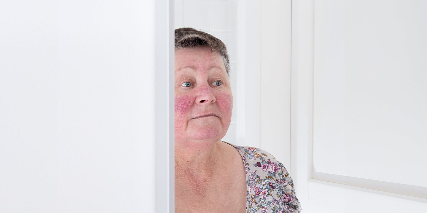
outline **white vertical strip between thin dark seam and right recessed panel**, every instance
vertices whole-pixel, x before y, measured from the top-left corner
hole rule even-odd
[[[308,210],[313,158],[313,0],[291,6],[291,176]]]

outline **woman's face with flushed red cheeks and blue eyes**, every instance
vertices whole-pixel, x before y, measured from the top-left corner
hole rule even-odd
[[[225,66],[209,47],[175,51],[175,139],[220,140],[231,122],[233,96]]]

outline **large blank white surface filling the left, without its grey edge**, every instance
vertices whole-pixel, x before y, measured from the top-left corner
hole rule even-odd
[[[155,211],[155,4],[2,1],[0,212]]]

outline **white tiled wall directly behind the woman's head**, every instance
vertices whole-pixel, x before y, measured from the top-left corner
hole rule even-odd
[[[236,58],[237,58],[236,0],[175,0],[175,29],[193,27],[221,39],[230,55],[230,80],[234,105],[231,124],[223,140],[236,142]]]

